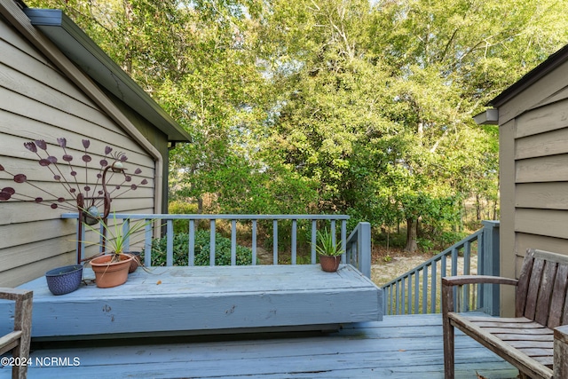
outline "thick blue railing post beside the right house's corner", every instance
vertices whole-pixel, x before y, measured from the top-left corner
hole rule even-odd
[[[483,243],[481,254],[477,259],[483,262],[483,272],[480,275],[499,276],[500,274],[500,251],[499,251],[499,221],[482,221]],[[480,249],[477,244],[477,249]],[[500,288],[497,285],[486,285],[483,288],[483,309],[492,316],[499,316]]]

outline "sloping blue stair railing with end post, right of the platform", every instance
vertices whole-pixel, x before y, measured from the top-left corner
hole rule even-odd
[[[477,274],[499,275],[499,222],[483,221],[483,224],[476,233],[383,285],[385,314],[439,313],[441,278],[476,273],[471,271],[472,257],[477,257]],[[458,270],[461,259],[463,263]],[[464,312],[499,314],[498,286],[464,286],[460,296]]]

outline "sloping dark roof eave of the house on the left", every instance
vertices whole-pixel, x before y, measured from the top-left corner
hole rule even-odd
[[[60,10],[26,8],[34,27],[42,31],[68,59],[118,99],[168,136],[170,142],[189,142],[190,135],[160,107],[121,67],[114,63]]]

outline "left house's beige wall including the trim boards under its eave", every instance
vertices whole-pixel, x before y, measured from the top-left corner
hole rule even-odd
[[[129,168],[139,167],[140,177],[148,180],[146,186],[114,199],[113,210],[162,211],[167,203],[167,159],[162,158],[167,158],[168,136],[122,100],[102,91],[27,20],[15,4],[2,0],[0,164],[61,195],[62,187],[53,183],[50,172],[39,166],[36,155],[23,143],[44,139],[56,144],[57,138],[64,137],[70,154],[79,156],[82,139],[88,138],[91,154],[102,157],[105,146],[111,146],[127,154]],[[50,148],[59,154],[59,146]],[[15,184],[2,174],[0,188],[12,186],[17,193],[38,195],[34,188]],[[76,222],[61,219],[64,212],[30,201],[0,201],[0,287],[18,286],[53,267],[75,263]]]

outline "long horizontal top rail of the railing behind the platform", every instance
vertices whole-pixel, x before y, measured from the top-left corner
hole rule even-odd
[[[64,213],[61,218],[77,218],[78,213]],[[218,215],[218,214],[195,214],[173,215],[169,213],[114,213],[110,218],[119,219],[193,219],[193,220],[348,220],[347,215]]]

